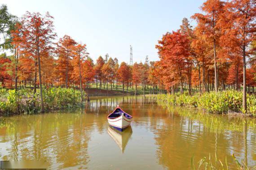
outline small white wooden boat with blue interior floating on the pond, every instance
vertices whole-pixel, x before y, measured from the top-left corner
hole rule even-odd
[[[107,116],[108,123],[119,131],[124,131],[125,128],[129,127],[132,122],[132,116],[125,113],[119,105],[115,110]]]

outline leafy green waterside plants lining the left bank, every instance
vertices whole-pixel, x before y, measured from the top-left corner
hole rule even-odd
[[[49,88],[43,90],[45,110],[72,108],[81,104],[80,92],[75,89]],[[40,110],[40,92],[37,89],[0,89],[0,115],[30,114]]]

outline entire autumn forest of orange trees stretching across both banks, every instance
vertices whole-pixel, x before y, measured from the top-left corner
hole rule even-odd
[[[163,34],[155,45],[159,61],[149,61],[146,57],[144,63],[133,65],[119,64],[117,58],[108,54],[93,61],[86,43],[78,43],[69,35],[57,39],[54,18],[49,13],[26,12],[18,18],[2,5],[0,48],[10,51],[10,55],[8,52],[0,55],[0,113],[9,110],[7,102],[11,94],[15,107],[23,103],[29,108],[22,112],[37,105],[44,112],[54,105],[70,104],[58,101],[59,95],[66,98],[65,93],[71,96],[75,93],[74,98],[79,98],[72,100],[75,105],[84,101],[87,89],[117,90],[120,86],[123,92],[134,89],[135,95],[140,87],[144,94],[150,89],[148,93],[170,93],[184,98],[228,96],[229,106],[222,106],[224,109],[218,113],[227,111],[226,107],[235,107],[235,111],[256,115],[255,5],[254,0],[206,0],[200,7],[202,13],[190,17],[195,26],[184,18],[180,29]],[[64,94],[62,89],[66,90]],[[17,103],[17,98],[31,98],[31,103],[24,104],[22,99]],[[55,104],[49,104],[55,100]],[[203,105],[204,100],[200,101]]]

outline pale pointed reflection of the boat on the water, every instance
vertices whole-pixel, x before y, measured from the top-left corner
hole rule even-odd
[[[108,127],[108,134],[115,140],[115,143],[119,146],[122,153],[124,153],[124,149],[128,143],[128,140],[132,136],[132,127],[127,127],[123,132],[119,132],[115,128],[109,126]]]

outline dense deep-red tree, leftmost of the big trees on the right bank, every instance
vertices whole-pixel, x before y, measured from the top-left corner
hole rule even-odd
[[[163,83],[166,89],[174,88],[180,82],[183,93],[184,68],[186,58],[190,55],[189,39],[179,31],[163,35],[159,45],[159,57],[163,68]]]

